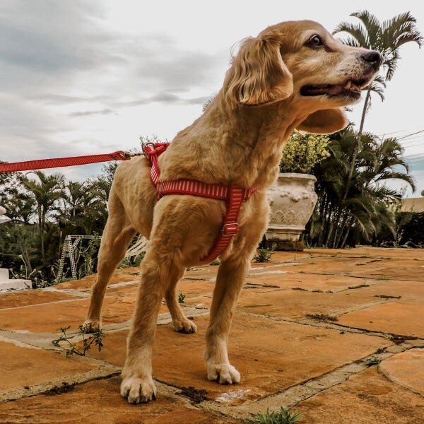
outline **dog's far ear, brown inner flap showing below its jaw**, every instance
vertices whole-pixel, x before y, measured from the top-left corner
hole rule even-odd
[[[312,134],[332,134],[348,125],[348,119],[341,107],[336,109],[318,110],[310,114],[300,125],[299,131]]]

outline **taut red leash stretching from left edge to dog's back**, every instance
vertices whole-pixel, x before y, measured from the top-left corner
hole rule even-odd
[[[49,167],[88,165],[88,163],[107,162],[109,160],[127,160],[129,158],[131,158],[129,153],[116,151],[102,155],[72,156],[70,158],[52,158],[28,160],[26,162],[0,163],[0,174],[2,172],[42,170]]]

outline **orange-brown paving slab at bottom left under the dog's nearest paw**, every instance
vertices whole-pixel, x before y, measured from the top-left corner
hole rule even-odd
[[[118,377],[88,382],[66,394],[40,395],[0,404],[3,424],[235,424],[238,421],[195,408],[182,397],[161,391],[158,400],[129,405],[119,396]]]

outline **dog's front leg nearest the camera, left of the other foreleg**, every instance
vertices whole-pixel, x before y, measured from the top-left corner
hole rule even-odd
[[[129,332],[126,361],[122,370],[121,394],[130,404],[146,403],[155,399],[156,388],[152,378],[152,348],[160,302],[173,273],[175,264],[167,257],[158,257],[150,246],[141,266],[141,283],[136,310]]]

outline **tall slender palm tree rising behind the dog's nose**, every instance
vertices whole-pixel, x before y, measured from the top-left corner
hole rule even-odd
[[[360,119],[357,146],[355,146],[351,158],[348,183],[352,179],[355,160],[360,151],[360,140],[363,134],[365,114],[371,106],[371,93],[377,93],[383,101],[384,88],[386,88],[387,81],[393,78],[394,71],[400,59],[399,49],[401,46],[407,42],[416,42],[418,46],[421,47],[423,43],[423,36],[416,29],[416,18],[414,18],[410,12],[401,13],[398,16],[394,16],[394,18],[384,20],[382,23],[369,11],[355,12],[352,13],[351,16],[358,18],[360,23],[353,24],[342,22],[337,25],[333,33],[348,33],[349,37],[343,40],[347,45],[364,47],[365,49],[377,50],[380,52],[383,57],[382,67],[385,73],[384,76],[377,76],[370,86],[365,88],[365,102]],[[344,199],[346,199],[347,194],[348,187],[345,189],[343,195]]]

